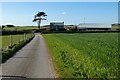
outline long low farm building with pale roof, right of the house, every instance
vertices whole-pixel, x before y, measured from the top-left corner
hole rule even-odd
[[[81,23],[78,25],[78,30],[111,30],[111,24],[102,23]]]

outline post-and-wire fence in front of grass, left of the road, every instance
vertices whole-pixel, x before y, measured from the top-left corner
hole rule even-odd
[[[0,37],[2,37],[1,50],[8,49],[8,47],[19,44],[21,41],[26,41],[27,39],[30,39],[33,36],[34,36],[33,33],[0,36]]]

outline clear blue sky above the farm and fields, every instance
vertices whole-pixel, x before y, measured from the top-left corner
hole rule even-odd
[[[117,23],[117,2],[2,2],[2,23],[16,26],[35,26],[32,22],[38,11],[48,16],[41,25],[50,22],[78,25],[80,23]]]

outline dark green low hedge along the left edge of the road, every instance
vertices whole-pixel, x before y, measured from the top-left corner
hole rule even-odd
[[[0,58],[1,62],[4,63],[6,60],[8,60],[10,57],[12,57],[18,50],[20,50],[23,46],[25,46],[27,43],[29,43],[32,39],[31,37],[27,39],[26,41],[21,41],[18,44],[14,45],[13,47],[9,47],[7,50],[2,51],[2,57]]]

